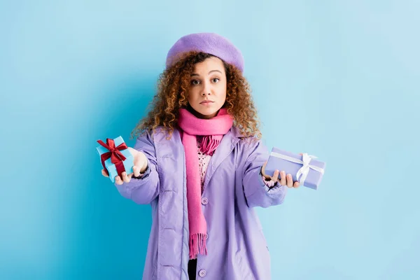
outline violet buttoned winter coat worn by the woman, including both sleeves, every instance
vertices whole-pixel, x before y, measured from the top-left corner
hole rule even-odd
[[[116,185],[123,197],[152,207],[145,280],[188,279],[184,149],[178,130],[166,137],[161,132],[137,138],[134,148],[146,154],[148,168],[142,179]],[[268,156],[260,141],[245,141],[236,127],[216,149],[202,193],[208,255],[197,257],[197,279],[271,279],[269,251],[253,207],[281,204],[287,187],[269,188],[262,181],[260,169]]]

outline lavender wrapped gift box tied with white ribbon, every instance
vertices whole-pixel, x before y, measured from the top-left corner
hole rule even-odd
[[[276,170],[282,170],[293,176],[293,181],[299,181],[300,186],[318,190],[325,170],[325,162],[315,160],[314,155],[303,153],[296,155],[278,148],[272,148],[265,174],[273,176]]]

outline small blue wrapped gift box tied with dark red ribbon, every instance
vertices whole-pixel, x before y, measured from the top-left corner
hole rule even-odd
[[[124,143],[123,137],[107,138],[106,143],[102,140],[97,142],[101,144],[97,147],[97,153],[101,157],[102,166],[113,183],[117,175],[123,178],[121,176],[123,172],[127,174],[133,172],[134,158]]]

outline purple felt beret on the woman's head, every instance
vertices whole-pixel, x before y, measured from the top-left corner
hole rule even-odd
[[[235,65],[241,72],[244,71],[244,57],[241,51],[227,38],[216,33],[195,33],[181,37],[169,50],[166,66],[171,66],[179,55],[191,50],[209,53]]]

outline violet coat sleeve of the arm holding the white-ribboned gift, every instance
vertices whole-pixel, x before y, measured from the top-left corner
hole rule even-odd
[[[275,183],[272,188],[262,179],[261,167],[268,160],[267,148],[257,141],[251,144],[244,165],[242,184],[248,207],[263,207],[283,203],[287,193],[287,186]]]

